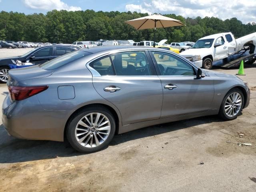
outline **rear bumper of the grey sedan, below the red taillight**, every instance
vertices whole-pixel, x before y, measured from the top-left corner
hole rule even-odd
[[[11,102],[7,96],[3,102],[2,124],[9,135],[31,140],[64,140],[64,128],[68,111],[44,110],[36,96]]]

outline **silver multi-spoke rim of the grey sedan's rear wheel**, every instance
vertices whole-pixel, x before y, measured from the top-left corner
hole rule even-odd
[[[89,113],[76,124],[75,138],[83,147],[94,148],[106,141],[110,134],[110,120],[102,113]]]

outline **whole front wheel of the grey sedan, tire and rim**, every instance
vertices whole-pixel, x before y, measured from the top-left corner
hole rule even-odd
[[[244,106],[244,95],[238,88],[230,90],[220,106],[219,115],[224,120],[233,120],[241,113]]]

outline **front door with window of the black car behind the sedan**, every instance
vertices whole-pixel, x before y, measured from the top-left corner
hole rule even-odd
[[[28,56],[27,60],[29,60],[30,63],[39,65],[54,58],[54,47],[52,46],[39,49],[38,51]]]

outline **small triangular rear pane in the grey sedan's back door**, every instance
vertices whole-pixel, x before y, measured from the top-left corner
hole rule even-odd
[[[90,67],[94,68],[101,76],[114,75],[112,62],[109,56],[104,56],[91,62]]]

